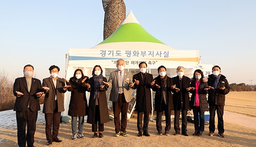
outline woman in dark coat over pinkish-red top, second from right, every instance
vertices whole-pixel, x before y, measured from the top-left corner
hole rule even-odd
[[[209,111],[206,98],[207,88],[207,81],[203,81],[203,72],[200,69],[195,70],[194,76],[191,79],[191,90],[189,91],[192,93],[190,105],[194,113],[195,133],[193,135],[201,136],[204,131],[204,112]]]

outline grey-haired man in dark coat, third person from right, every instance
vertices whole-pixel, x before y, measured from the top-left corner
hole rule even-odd
[[[187,134],[187,110],[189,108],[189,95],[188,91],[191,89],[190,87],[190,79],[184,76],[185,68],[183,66],[177,67],[178,76],[173,78],[173,82],[176,85],[175,91],[173,94],[174,100],[174,130],[175,134],[180,134],[180,111],[182,117],[182,126],[181,131],[182,135],[188,136]]]

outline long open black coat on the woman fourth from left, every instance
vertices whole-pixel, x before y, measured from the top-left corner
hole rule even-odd
[[[103,77],[102,79],[104,82],[108,82],[105,77]],[[94,80],[92,77],[89,79],[89,84],[91,85],[91,92],[90,92],[90,99],[89,99],[87,122],[89,124],[94,124],[96,100],[94,99]],[[100,89],[99,91],[98,104],[99,104],[99,113],[100,113],[100,124],[110,121],[108,103],[106,101],[106,90],[108,90],[108,87],[104,86],[104,88]]]

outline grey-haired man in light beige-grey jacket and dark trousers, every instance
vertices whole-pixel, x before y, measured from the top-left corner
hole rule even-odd
[[[131,102],[131,90],[133,86],[133,77],[131,72],[124,70],[125,62],[123,59],[117,60],[116,67],[118,70],[111,72],[109,85],[112,86],[110,93],[110,101],[113,103],[115,136],[120,134],[128,136],[126,132],[127,111],[129,102]],[[121,112],[121,126],[120,126]]]

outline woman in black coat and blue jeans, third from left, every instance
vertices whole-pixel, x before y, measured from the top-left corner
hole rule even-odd
[[[69,112],[68,115],[72,117],[72,139],[83,138],[83,122],[84,116],[87,115],[87,98],[86,91],[91,91],[91,86],[88,84],[89,78],[83,75],[81,69],[76,69],[74,76],[70,80],[64,79],[67,85],[71,87],[68,91],[71,91]],[[76,124],[78,116],[78,134],[76,134]]]

